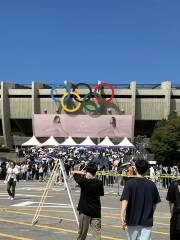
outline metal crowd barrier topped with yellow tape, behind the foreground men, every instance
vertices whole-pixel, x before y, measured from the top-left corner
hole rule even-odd
[[[117,194],[120,195],[122,187],[125,182],[136,175],[128,176],[126,174],[112,173],[112,172],[97,172],[96,177],[100,179],[104,186],[111,188]],[[170,176],[170,175],[155,175],[155,176],[144,176],[145,178],[153,181],[159,190],[168,189],[171,182],[176,179],[180,179],[180,176]]]

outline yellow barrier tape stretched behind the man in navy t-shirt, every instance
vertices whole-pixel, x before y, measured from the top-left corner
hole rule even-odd
[[[127,175],[127,174],[120,174],[120,173],[112,173],[112,172],[97,172],[96,176],[108,176],[108,177],[137,177],[136,175]],[[150,178],[150,179],[164,179],[164,178],[170,178],[170,179],[180,179],[180,176],[170,176],[170,175],[145,175],[145,178]]]

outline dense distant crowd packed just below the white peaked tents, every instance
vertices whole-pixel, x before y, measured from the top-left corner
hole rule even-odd
[[[21,150],[20,150],[21,151]],[[95,162],[99,171],[120,172],[121,164],[133,154],[132,149],[93,149],[84,147],[25,148],[21,153],[24,161],[19,163],[20,179],[45,180],[54,166],[54,159],[60,158],[69,176],[75,169],[81,170],[88,162]],[[4,175],[3,175],[4,176]]]

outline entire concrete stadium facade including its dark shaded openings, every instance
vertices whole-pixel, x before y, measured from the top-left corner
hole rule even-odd
[[[94,86],[92,86],[94,87]],[[132,115],[134,136],[151,136],[158,120],[167,119],[172,113],[180,116],[180,85],[171,81],[161,84],[115,84],[115,98],[105,105],[105,114]],[[59,110],[52,101],[51,88],[47,84],[32,82],[31,85],[1,82],[0,144],[8,147],[21,145],[33,135],[34,114],[68,114]],[[59,86],[58,97],[65,89]],[[104,90],[111,95],[111,90]],[[78,88],[80,96],[87,88]],[[60,111],[60,112],[59,112]],[[87,114],[83,112],[74,114]]]

